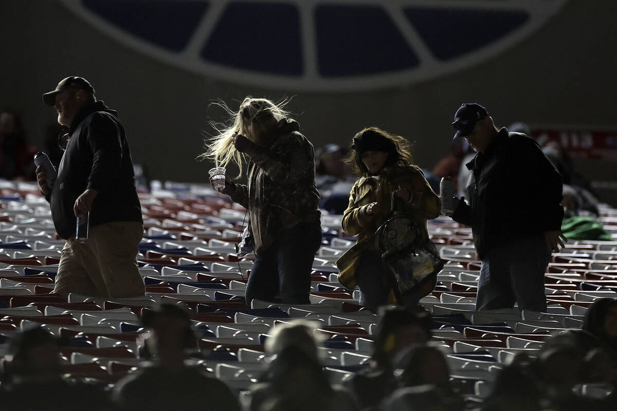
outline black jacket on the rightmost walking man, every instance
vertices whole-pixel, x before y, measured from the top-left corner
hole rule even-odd
[[[534,139],[502,128],[466,166],[471,203],[459,203],[452,218],[471,226],[480,259],[497,246],[561,229],[561,175]]]

